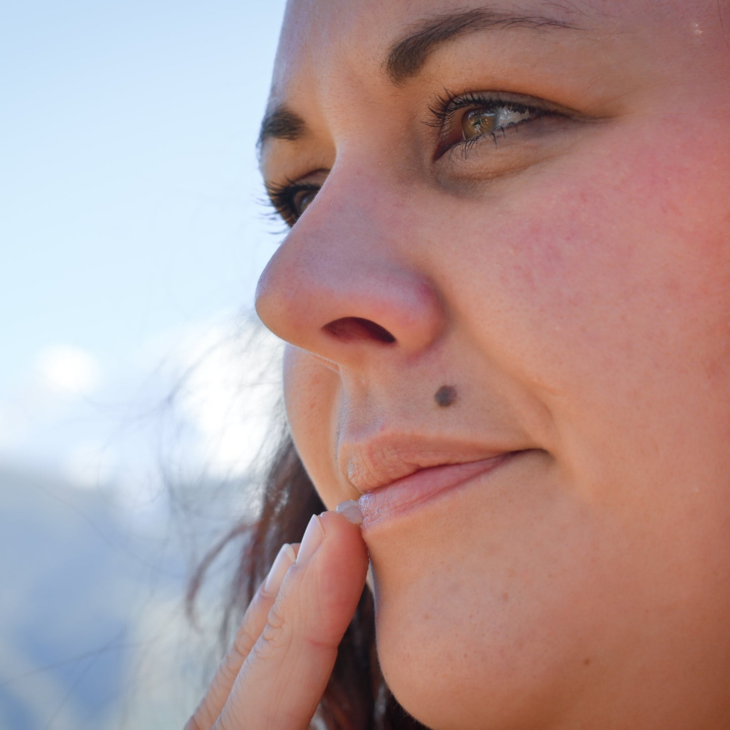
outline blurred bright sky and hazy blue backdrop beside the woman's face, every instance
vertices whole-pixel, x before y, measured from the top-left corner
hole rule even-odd
[[[255,160],[283,0],[0,23],[0,728],[180,730],[218,658],[280,353]]]

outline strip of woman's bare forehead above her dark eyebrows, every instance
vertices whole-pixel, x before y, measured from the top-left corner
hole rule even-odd
[[[650,32],[658,26],[701,29],[721,23],[724,0],[288,0],[272,99],[288,96],[296,78],[329,69],[385,71],[388,53],[442,18],[480,15],[485,25],[550,28],[563,24],[599,35]]]

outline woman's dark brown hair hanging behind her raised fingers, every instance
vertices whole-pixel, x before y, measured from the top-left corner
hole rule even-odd
[[[188,612],[192,613],[207,569],[223,548],[240,539],[242,549],[220,627],[220,636],[228,637],[231,626],[239,623],[269,572],[281,545],[299,542],[311,515],[323,510],[324,504],[285,431],[264,482],[260,512],[255,520],[234,526],[205,556],[188,589]],[[374,605],[369,588],[363,591],[353,621],[339,645],[337,661],[315,718],[316,727],[326,730],[423,728],[385,686],[375,654]]]

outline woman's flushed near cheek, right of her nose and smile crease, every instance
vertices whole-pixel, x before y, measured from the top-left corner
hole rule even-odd
[[[475,338],[538,393],[584,499],[638,513],[656,490],[679,505],[687,483],[725,488],[730,174],[710,152],[683,150],[693,169],[662,166],[639,139],[624,169],[609,155],[549,195],[526,191],[531,207],[499,215],[497,245],[470,261],[489,292]],[[464,318],[477,291],[454,294]]]

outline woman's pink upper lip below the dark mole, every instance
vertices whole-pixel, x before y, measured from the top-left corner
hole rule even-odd
[[[382,434],[365,442],[341,444],[338,461],[345,480],[364,493],[403,479],[421,469],[483,461],[517,450],[522,449]]]

